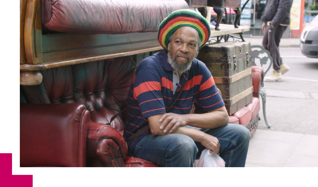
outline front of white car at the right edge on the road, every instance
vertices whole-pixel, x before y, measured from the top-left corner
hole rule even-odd
[[[302,31],[300,48],[306,57],[318,58],[318,16]]]

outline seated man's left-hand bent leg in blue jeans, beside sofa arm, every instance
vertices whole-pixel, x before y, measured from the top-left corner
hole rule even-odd
[[[135,146],[132,156],[162,167],[193,167],[197,154],[194,141],[182,134],[147,135]]]

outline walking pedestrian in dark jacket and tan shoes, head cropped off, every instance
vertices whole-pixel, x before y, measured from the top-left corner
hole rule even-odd
[[[279,44],[287,26],[290,24],[290,9],[293,0],[267,0],[262,16],[262,30],[264,33],[263,47],[273,58],[273,74],[266,77],[266,82],[281,82],[282,75],[290,67],[283,64],[280,58]]]

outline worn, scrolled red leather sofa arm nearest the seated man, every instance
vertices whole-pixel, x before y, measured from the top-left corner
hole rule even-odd
[[[91,123],[87,133],[87,154],[91,167],[125,167],[128,154],[125,139],[113,127]]]

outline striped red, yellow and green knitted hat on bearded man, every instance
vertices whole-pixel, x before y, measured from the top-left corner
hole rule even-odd
[[[181,27],[192,27],[198,31],[202,40],[200,48],[211,35],[210,24],[203,16],[190,9],[177,10],[166,17],[159,26],[158,40],[165,50],[168,50],[169,37]]]

